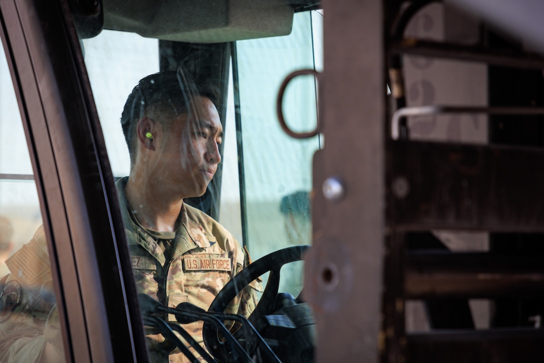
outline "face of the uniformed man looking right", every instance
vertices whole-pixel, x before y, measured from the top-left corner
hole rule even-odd
[[[221,161],[223,130],[219,113],[207,97],[194,97],[188,114],[172,121],[164,132],[157,162],[158,182],[180,198],[200,196]],[[160,173],[160,174],[159,174]]]

